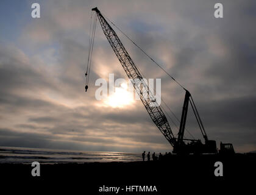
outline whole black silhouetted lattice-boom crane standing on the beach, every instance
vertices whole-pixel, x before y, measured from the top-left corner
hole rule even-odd
[[[171,127],[169,125],[169,122],[165,114],[163,113],[162,108],[155,101],[155,98],[152,92],[149,90],[147,83],[143,80],[143,77],[141,76],[140,72],[135,66],[135,63],[130,58],[130,55],[128,54],[123,44],[119,40],[118,35],[116,35],[116,32],[112,29],[110,24],[107,23],[106,19],[104,18],[104,16],[102,16],[101,12],[98,10],[97,7],[93,8],[92,10],[96,12],[99,19],[99,23],[101,24],[102,30],[105,34],[105,37],[107,37],[107,40],[110,43],[110,46],[112,46],[112,49],[116,54],[116,57],[118,58],[121,65],[123,66],[124,71],[126,72],[130,81],[133,83],[133,87],[135,88],[135,91],[137,91],[138,95],[140,96],[141,102],[143,103],[144,107],[149,113],[149,116],[151,117],[154,124],[158,127],[160,132],[163,133],[166,140],[168,140],[169,143],[172,145],[173,152],[176,154],[217,153],[216,141],[208,140],[204,126],[202,124],[199,113],[197,112],[196,105],[194,104],[194,101],[193,101],[193,98],[191,97],[190,92],[185,88],[183,88],[182,85],[180,85],[179,83],[178,84],[180,85],[180,87],[182,87],[185,90],[185,99],[183,103],[182,117],[180,120],[178,137],[174,137]],[[145,94],[147,96],[145,96]],[[193,113],[196,116],[197,123],[204,137],[204,140],[205,140],[204,144],[201,142],[201,140],[194,140],[194,139],[192,140],[192,139],[184,138],[185,124],[187,120],[189,104],[193,109]],[[186,144],[184,141],[189,141],[189,143]]]

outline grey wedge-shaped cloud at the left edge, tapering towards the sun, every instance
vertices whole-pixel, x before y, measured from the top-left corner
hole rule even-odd
[[[22,88],[39,90],[40,88],[54,88],[49,78],[45,75],[47,70],[38,70],[29,64],[27,56],[15,46],[1,44],[0,47],[0,90],[20,91]]]

